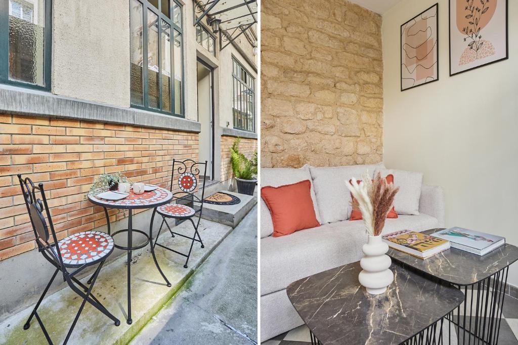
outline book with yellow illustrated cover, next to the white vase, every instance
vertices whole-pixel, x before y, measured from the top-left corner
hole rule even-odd
[[[450,248],[450,241],[410,230],[396,231],[382,238],[390,248],[423,259]]]

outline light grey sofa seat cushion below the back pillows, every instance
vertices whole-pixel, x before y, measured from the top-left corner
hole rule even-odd
[[[424,231],[438,226],[430,215],[387,219],[382,234],[396,230]],[[342,221],[261,239],[261,295],[285,289],[295,280],[362,258],[367,243],[363,222]]]

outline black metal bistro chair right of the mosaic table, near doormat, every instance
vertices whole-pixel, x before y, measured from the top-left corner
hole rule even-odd
[[[188,170],[187,163],[192,163],[189,171],[187,171]],[[202,245],[202,248],[205,248],[205,246],[203,245],[203,242],[202,242],[202,238],[199,236],[199,233],[198,233],[198,226],[199,226],[200,220],[202,219],[203,199],[205,196],[205,180],[206,180],[205,177],[207,176],[207,161],[205,161],[205,163],[201,163],[201,162],[195,162],[190,159],[187,159],[184,161],[172,160],[171,188],[170,188],[171,192],[172,192],[172,185],[174,183],[173,177],[175,175],[175,165],[177,165],[177,164],[179,165],[177,168],[177,171],[178,171],[178,174],[180,174],[180,177],[178,178],[178,187],[180,188],[181,192],[176,192],[176,193],[172,194],[173,199],[171,200],[171,204],[163,205],[163,206],[160,206],[159,208],[155,209],[162,216],[162,224],[160,224],[160,229],[159,229],[158,234],[156,235],[154,246],[160,246],[162,248],[170,250],[171,252],[175,252],[177,254],[185,256],[187,258],[187,260],[185,260],[185,265],[183,265],[183,267],[187,268],[187,263],[189,262],[189,257],[191,256],[194,241],[200,242]],[[193,191],[196,189],[196,186],[198,185],[198,180],[197,180],[196,176],[199,179],[200,169],[203,168],[203,166],[205,167],[205,171],[204,171],[204,175],[203,175],[204,179],[203,179],[203,185],[202,185],[202,198],[200,199],[196,195],[193,194]],[[182,196],[175,198],[175,195],[179,195],[179,194],[182,194]],[[172,204],[172,202],[178,202],[179,200],[192,202],[193,207],[194,207],[194,203],[198,203],[198,204],[200,204],[199,209],[195,210],[192,207],[189,207],[187,205],[182,205],[182,204]],[[198,220],[195,222],[193,220],[193,218],[196,213],[198,213]],[[154,211],[153,211],[153,215],[151,217],[152,217],[151,219],[153,219]],[[173,219],[178,219],[178,220],[187,220],[187,219],[190,220],[194,227],[193,237],[189,237],[189,236],[185,236],[183,234],[178,234],[178,233],[173,232],[171,230],[169,224],[167,223],[166,218],[173,218]],[[189,249],[189,253],[184,254],[184,253],[178,252],[174,249],[165,247],[165,246],[161,245],[160,243],[157,243],[157,240],[160,236],[160,232],[162,231],[162,227],[164,226],[164,223],[167,226],[167,228],[169,229],[169,232],[171,233],[172,237],[175,237],[175,235],[178,235],[178,236],[182,236],[185,238],[189,238],[192,241],[191,248]],[[152,220],[151,220],[151,224],[153,224]],[[153,248],[154,248],[154,246],[153,246]]]

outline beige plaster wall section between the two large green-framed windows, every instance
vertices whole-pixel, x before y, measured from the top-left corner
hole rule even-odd
[[[52,9],[52,93],[129,107],[129,2],[53,0]]]

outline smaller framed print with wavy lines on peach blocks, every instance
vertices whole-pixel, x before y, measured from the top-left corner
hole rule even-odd
[[[401,25],[401,91],[439,80],[438,7]]]

